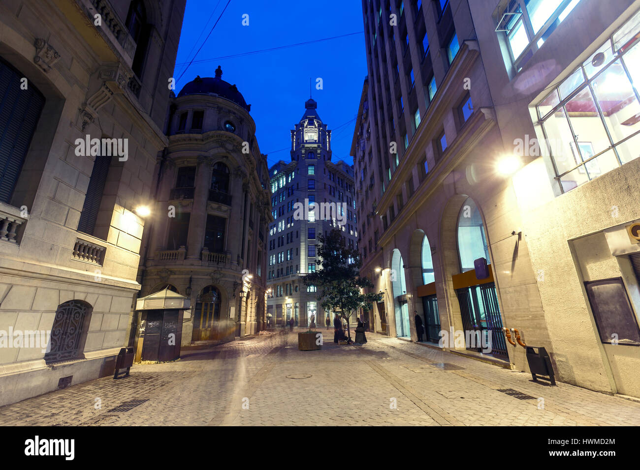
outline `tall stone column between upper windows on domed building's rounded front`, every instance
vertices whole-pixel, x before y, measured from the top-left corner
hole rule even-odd
[[[195,190],[193,191],[193,208],[189,219],[189,235],[187,238],[187,259],[200,259],[204,232],[207,226],[207,200],[211,182],[211,159],[198,157]]]

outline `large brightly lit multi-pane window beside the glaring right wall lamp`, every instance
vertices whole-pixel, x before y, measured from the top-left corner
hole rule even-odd
[[[640,102],[634,83],[640,80],[640,22],[634,17],[619,31],[624,33],[616,31],[537,107],[547,139],[541,150],[552,158],[563,192],[639,156]],[[612,44],[621,36],[630,40],[614,54]]]

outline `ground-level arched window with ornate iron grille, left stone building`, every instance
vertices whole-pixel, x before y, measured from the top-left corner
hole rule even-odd
[[[67,301],[58,306],[51,327],[49,352],[44,355],[45,363],[58,363],[76,359],[84,350],[86,333],[92,307],[83,301]]]

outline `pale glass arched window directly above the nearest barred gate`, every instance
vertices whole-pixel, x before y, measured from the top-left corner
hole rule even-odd
[[[478,258],[491,263],[482,215],[471,198],[465,200],[458,214],[458,255],[460,272],[474,269],[474,260]]]

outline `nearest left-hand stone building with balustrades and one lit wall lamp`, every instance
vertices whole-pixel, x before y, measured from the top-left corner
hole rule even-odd
[[[112,374],[127,344],[184,7],[0,4],[0,405]]]

